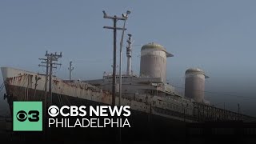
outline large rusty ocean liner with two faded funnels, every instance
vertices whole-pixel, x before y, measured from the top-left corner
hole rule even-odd
[[[130,47],[127,47],[126,74],[116,74],[115,104],[130,106],[131,127],[122,129],[122,139],[177,139],[186,135],[187,123],[207,121],[255,122],[255,118],[210,106],[204,98],[206,76],[203,70],[186,70],[185,95],[166,82],[166,58],[173,57],[163,46],[151,42],[142,46],[139,76],[131,70]],[[113,102],[113,74],[104,73],[101,79],[66,80],[27,70],[1,67],[6,88],[5,98],[13,110],[14,101],[42,101],[50,105],[98,106]],[[119,83],[122,78],[122,97]],[[48,98],[48,99],[47,99]],[[49,100],[50,98],[50,100]],[[65,131],[65,130],[63,130]],[[62,132],[63,132],[62,131]],[[68,132],[72,131],[70,129]],[[78,132],[74,134],[75,132]],[[78,138],[110,139],[108,130],[81,129],[70,132]],[[62,132],[62,139],[65,136]],[[54,133],[52,133],[54,134]],[[111,137],[112,136],[112,137]],[[36,138],[36,137],[35,137]]]

